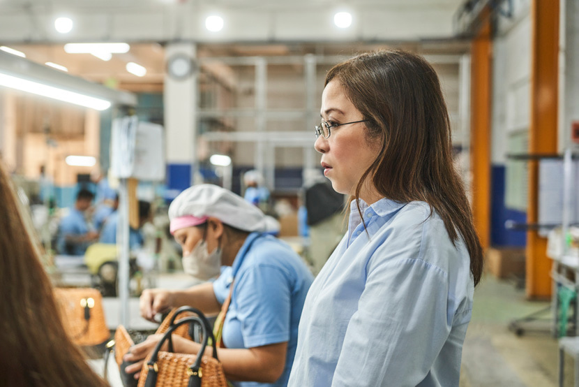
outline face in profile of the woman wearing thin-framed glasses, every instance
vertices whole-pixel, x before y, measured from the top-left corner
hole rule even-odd
[[[322,119],[330,126],[364,119],[347,98],[338,80],[331,80],[322,94]],[[366,141],[364,122],[331,128],[329,138],[319,136],[315,149],[322,154],[324,175],[340,194],[353,195],[360,177],[376,159],[380,145]],[[371,204],[379,199],[373,185],[363,184],[360,198]]]

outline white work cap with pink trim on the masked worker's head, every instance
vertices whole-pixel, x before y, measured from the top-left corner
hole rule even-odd
[[[266,232],[265,214],[232,191],[213,184],[197,184],[181,192],[169,206],[170,231],[197,226],[208,217],[248,232]]]

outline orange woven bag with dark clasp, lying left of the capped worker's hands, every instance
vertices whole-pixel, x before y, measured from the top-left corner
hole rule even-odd
[[[103,298],[100,292],[90,288],[54,289],[59,316],[68,337],[80,346],[102,344],[110,338],[110,331],[103,312]],[[84,319],[81,300],[92,298],[94,305],[89,309],[90,318]]]

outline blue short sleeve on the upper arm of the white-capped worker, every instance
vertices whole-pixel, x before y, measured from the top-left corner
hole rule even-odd
[[[282,268],[260,264],[239,273],[234,298],[246,348],[289,341],[291,280]]]

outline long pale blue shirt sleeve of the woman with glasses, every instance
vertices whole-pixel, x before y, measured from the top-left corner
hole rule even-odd
[[[419,259],[420,242],[406,245],[402,257],[392,247],[382,245],[370,258],[332,386],[416,386],[449,337],[447,273]]]

